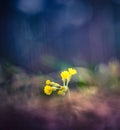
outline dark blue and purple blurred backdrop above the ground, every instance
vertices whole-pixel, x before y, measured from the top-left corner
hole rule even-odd
[[[0,62],[30,72],[120,58],[120,0],[1,0]]]

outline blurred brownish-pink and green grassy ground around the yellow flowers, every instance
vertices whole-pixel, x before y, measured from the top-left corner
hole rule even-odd
[[[120,63],[76,67],[70,95],[47,96],[45,81],[59,72],[28,74],[1,65],[0,130],[120,130]]]

